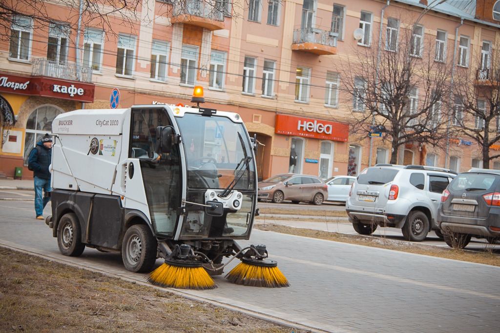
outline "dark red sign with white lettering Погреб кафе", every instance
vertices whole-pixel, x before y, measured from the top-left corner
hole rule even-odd
[[[92,83],[0,72],[0,92],[93,102],[94,90]]]

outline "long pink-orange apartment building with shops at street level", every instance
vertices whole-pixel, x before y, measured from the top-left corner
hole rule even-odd
[[[479,68],[477,59],[491,57],[500,38],[495,0],[213,0],[216,10],[206,0],[139,3],[142,19],[123,24],[115,15],[109,25],[90,22],[80,31],[78,15],[54,2],[46,3],[50,24],[12,18],[10,38],[0,41],[0,173],[13,177],[24,167],[30,178],[27,154],[61,112],[110,108],[116,89],[118,107],[190,105],[201,85],[207,107],[239,113],[261,143],[259,179],[288,172],[292,150],[295,173],[357,175],[387,163],[390,144],[354,131],[346,59],[384,47],[416,19],[415,38],[432,48],[432,61]],[[400,164],[457,171],[480,159],[460,137],[446,151],[411,144],[398,151]]]

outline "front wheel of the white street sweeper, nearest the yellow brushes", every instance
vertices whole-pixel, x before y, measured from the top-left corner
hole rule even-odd
[[[121,244],[121,260],[130,272],[149,272],[156,262],[156,238],[149,227],[135,224],[127,229]]]

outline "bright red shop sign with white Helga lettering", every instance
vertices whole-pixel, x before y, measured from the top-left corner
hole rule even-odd
[[[347,141],[349,125],[327,120],[277,114],[274,132],[317,139]]]

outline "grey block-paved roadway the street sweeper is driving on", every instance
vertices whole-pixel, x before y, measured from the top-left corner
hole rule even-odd
[[[290,287],[243,287],[219,276],[215,290],[173,291],[313,332],[500,332],[499,267],[259,230],[241,242],[249,244],[267,245]],[[60,255],[32,201],[0,200],[0,245],[144,282],[116,254]]]

